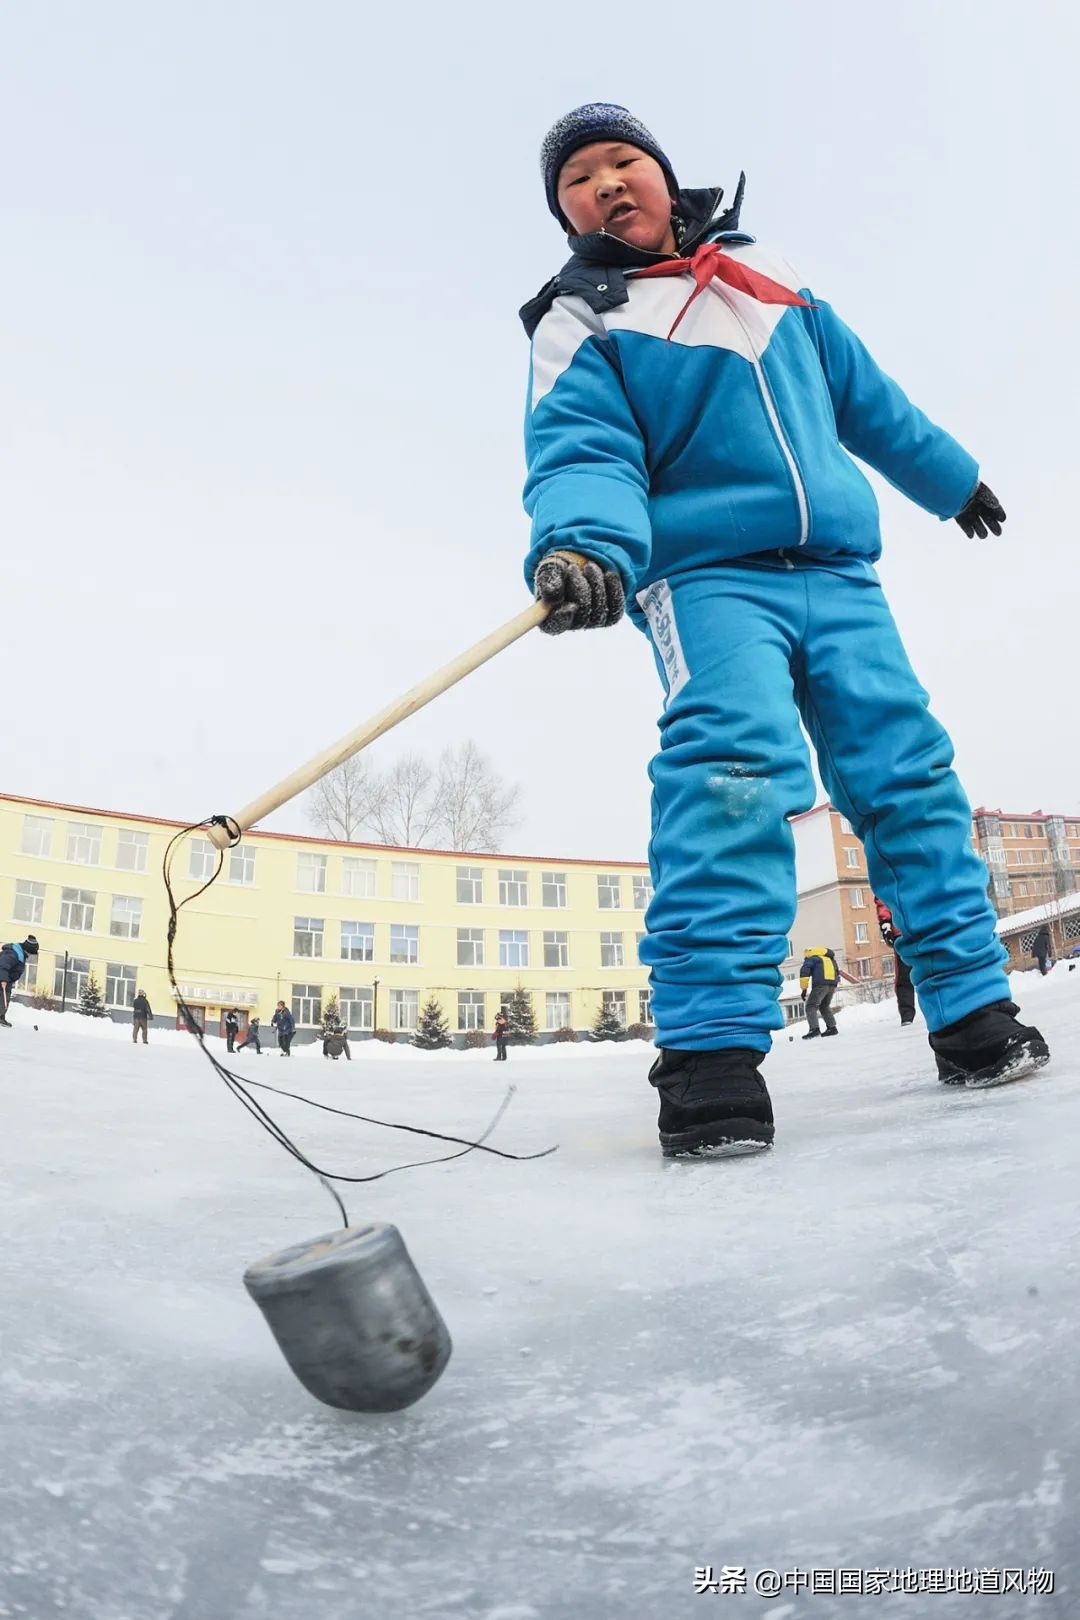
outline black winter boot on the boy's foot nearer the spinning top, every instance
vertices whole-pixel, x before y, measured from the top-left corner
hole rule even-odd
[[[772,1103],[758,1074],[763,1051],[667,1048],[649,1069],[661,1094],[664,1158],[753,1153],[772,1145]]]

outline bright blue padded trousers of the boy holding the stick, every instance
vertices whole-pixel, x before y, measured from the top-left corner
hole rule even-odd
[[[952,744],[868,564],[753,561],[638,596],[667,688],[641,961],[657,1047],[767,1051],[795,920],[789,816],[829,799],[904,930],[931,1030],[1009,996]],[[808,941],[803,941],[808,943]],[[829,944],[829,941],[823,941]]]

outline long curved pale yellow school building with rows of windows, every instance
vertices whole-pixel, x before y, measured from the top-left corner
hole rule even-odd
[[[136,988],[154,1022],[178,1024],[165,969],[162,859],[181,821],[0,794],[0,938],[40,943],[18,993],[78,1006],[92,974],[113,1017]],[[217,867],[191,834],[173,860],[178,899]],[[201,1025],[269,1024],[277,1001],[314,1032],[337,996],[355,1035],[402,1040],[434,995],[458,1038],[491,1030],[518,985],[536,1024],[588,1030],[601,1004],[651,1024],[638,962],[649,872],[636,862],[342,844],[248,833],[180,914],[176,982]]]

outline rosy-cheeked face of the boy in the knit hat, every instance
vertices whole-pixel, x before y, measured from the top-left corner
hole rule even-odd
[[[559,207],[575,237],[606,230],[649,253],[675,251],[667,178],[640,146],[580,146],[559,170]]]

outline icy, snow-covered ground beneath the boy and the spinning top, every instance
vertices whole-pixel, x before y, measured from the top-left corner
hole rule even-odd
[[[780,1037],[777,1147],[721,1163],[661,1160],[640,1043],[497,1069],[243,1055],[461,1134],[517,1081],[499,1145],[559,1142],[343,1189],[353,1220],[400,1226],[455,1341],[419,1405],[374,1418],[319,1406],[241,1286],[337,1225],[325,1191],[186,1037],[76,1038],[16,1008],[0,1615],[1080,1612],[1080,969],[1014,987],[1043,1074],[947,1090],[921,1024],[852,1009],[839,1040]],[[272,1103],[332,1168],[416,1157]],[[1056,1594],[696,1596],[703,1565],[1043,1567]]]

